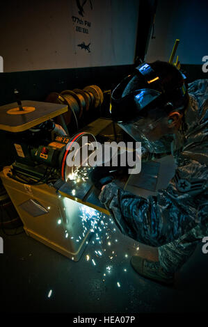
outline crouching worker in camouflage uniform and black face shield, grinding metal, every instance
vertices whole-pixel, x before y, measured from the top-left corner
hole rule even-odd
[[[139,65],[112,93],[112,119],[141,141],[142,161],[163,152],[177,164],[157,196],[135,196],[111,178],[102,178],[108,184],[99,195],[123,234],[159,248],[159,262],[131,257],[134,269],[166,284],[208,235],[207,98],[208,79],[191,83],[188,93],[184,75],[161,61]]]

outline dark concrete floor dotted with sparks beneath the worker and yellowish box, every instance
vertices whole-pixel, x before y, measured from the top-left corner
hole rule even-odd
[[[175,285],[166,287],[139,276],[129,264],[131,255],[135,254],[157,260],[157,249],[125,237],[109,218],[106,221],[109,239],[103,236],[99,247],[93,234],[79,262],[67,259],[24,232],[12,237],[0,230],[4,245],[4,253],[0,255],[0,311],[207,311],[208,254],[202,253],[202,243],[177,273]],[[103,255],[97,257],[95,250],[102,250]],[[90,255],[89,261],[86,255]],[[91,261],[93,258],[96,266]],[[111,272],[106,269],[108,266]]]

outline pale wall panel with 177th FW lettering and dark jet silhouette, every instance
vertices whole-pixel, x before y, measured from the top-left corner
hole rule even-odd
[[[4,1],[3,72],[134,63],[138,4],[138,0]]]

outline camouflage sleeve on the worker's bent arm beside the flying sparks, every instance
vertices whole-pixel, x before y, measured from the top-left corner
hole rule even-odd
[[[178,177],[182,173],[177,171],[168,188],[160,190],[157,196],[141,198],[111,182],[104,187],[99,200],[122,234],[143,244],[162,246],[203,224],[208,217],[207,182],[203,178],[207,170],[198,180]],[[189,168],[185,173],[190,173]]]

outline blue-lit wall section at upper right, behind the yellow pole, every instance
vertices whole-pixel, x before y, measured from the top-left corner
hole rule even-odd
[[[205,0],[158,0],[154,35],[150,38],[145,60],[168,61],[175,39],[177,55],[184,64],[202,64],[208,56],[208,2]]]

